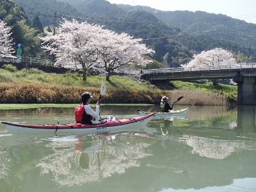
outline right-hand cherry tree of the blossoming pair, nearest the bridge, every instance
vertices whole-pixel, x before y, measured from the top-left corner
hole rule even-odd
[[[150,63],[143,55],[152,54],[154,51],[145,44],[140,44],[141,38],[132,38],[127,33],[117,34],[113,31],[109,31],[108,36],[111,38],[104,38],[104,42],[99,45],[99,65],[106,70],[106,81],[109,81],[109,77],[117,69],[125,74],[132,63],[141,66]]]

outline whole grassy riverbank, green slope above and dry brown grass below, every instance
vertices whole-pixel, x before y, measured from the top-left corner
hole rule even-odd
[[[237,87],[212,83],[172,81],[151,84],[134,81],[127,76],[88,76],[86,83],[75,73],[45,73],[36,68],[17,70],[12,65],[0,68],[0,104],[77,104],[81,93],[93,94],[92,103],[99,99],[100,85],[104,81],[107,91],[104,104],[158,104],[166,95],[170,102],[180,96],[179,104],[225,105],[236,101]],[[177,103],[178,104],[178,103]]]

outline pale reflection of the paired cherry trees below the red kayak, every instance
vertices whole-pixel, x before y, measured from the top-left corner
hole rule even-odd
[[[56,184],[73,186],[125,173],[127,168],[140,166],[138,159],[152,155],[145,152],[149,145],[146,143],[100,142],[104,143],[100,144],[99,151],[93,149],[88,152],[90,163],[86,169],[79,165],[82,154],[75,152],[74,142],[49,143],[45,147],[52,148],[53,153],[43,157],[36,166],[42,168],[41,174],[52,172]]]

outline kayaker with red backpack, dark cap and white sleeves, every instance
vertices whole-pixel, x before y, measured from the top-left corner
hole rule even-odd
[[[92,120],[99,117],[100,113],[100,104],[99,101],[96,105],[96,111],[93,111],[92,107],[89,105],[91,102],[91,98],[93,96],[85,92],[81,95],[82,104],[75,109],[76,122],[79,124],[92,124]]]

